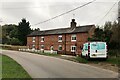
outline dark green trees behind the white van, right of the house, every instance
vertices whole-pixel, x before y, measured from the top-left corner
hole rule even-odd
[[[99,28],[99,26],[95,29],[94,35],[92,38],[88,38],[89,41],[104,41],[107,42],[108,49],[116,49],[119,48],[118,35],[119,35],[119,27],[117,22],[106,22],[103,28]]]

